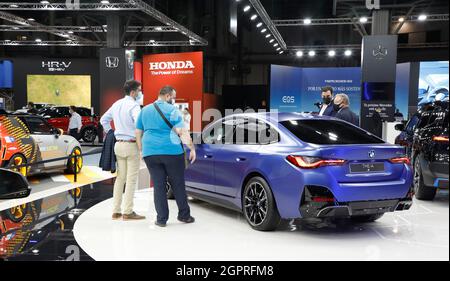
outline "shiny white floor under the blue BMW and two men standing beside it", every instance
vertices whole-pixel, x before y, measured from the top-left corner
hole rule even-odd
[[[154,226],[151,190],[136,194],[145,221],[112,221],[111,200],[77,220],[79,245],[96,260],[449,260],[449,199],[416,201],[405,212],[372,224],[317,225],[295,222],[276,232],[252,230],[236,212],[192,201],[197,222],[176,221],[170,202],[166,228]]]

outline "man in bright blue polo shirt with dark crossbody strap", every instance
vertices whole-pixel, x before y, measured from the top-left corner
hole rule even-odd
[[[181,112],[173,105],[176,91],[170,86],[161,89],[159,98],[146,106],[136,121],[136,139],[154,185],[157,226],[169,219],[166,182],[169,181],[177,205],[178,220],[193,223],[184,180],[185,155],[181,139],[189,147],[189,160],[194,163],[195,147],[186,130]]]

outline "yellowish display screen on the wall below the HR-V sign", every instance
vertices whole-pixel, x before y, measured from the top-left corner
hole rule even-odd
[[[89,75],[27,75],[27,98],[34,103],[91,107]]]

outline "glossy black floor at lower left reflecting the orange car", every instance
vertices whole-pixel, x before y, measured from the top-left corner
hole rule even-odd
[[[77,244],[74,222],[111,197],[112,182],[60,192],[0,212],[0,260],[92,260]]]

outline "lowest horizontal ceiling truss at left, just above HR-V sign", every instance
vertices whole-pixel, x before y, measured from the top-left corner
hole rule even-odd
[[[106,42],[95,41],[19,41],[19,40],[0,40],[0,46],[65,46],[65,47],[102,47]],[[193,40],[190,41],[134,41],[125,42],[125,47],[187,47],[203,46],[202,43]]]

